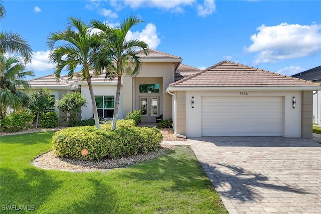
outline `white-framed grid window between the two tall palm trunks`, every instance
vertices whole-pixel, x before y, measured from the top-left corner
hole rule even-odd
[[[112,118],[115,109],[114,96],[95,96],[98,117]]]

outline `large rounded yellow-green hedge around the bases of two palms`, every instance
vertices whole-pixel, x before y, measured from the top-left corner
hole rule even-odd
[[[53,135],[53,146],[59,156],[81,159],[82,149],[88,150],[86,159],[117,158],[156,151],[163,136],[157,128],[136,127],[135,121],[118,120],[115,130],[111,124],[71,127]]]

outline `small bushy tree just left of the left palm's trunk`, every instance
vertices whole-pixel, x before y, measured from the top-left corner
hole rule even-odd
[[[56,107],[66,114],[68,126],[74,126],[77,122],[77,115],[81,107],[85,106],[87,99],[79,91],[66,94],[60,100],[57,100]]]

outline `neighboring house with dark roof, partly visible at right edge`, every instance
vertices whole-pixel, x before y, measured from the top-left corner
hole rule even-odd
[[[296,77],[303,80],[309,80],[315,83],[321,83],[321,66],[294,74]],[[321,91],[313,91],[313,115],[312,121],[316,124],[321,124]]]

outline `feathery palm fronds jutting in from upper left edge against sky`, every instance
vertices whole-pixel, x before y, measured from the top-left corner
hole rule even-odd
[[[3,1],[0,1],[0,20],[6,16],[6,9],[2,3]],[[0,56],[4,53],[21,54],[26,64],[32,60],[32,49],[28,42],[13,32],[0,32]]]

